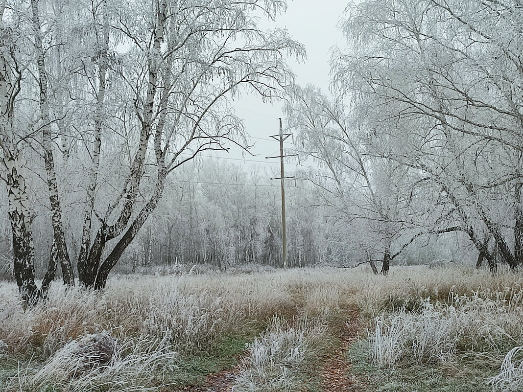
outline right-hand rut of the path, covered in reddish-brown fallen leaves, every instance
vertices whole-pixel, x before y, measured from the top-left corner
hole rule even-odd
[[[350,362],[347,352],[350,344],[358,338],[358,314],[350,312],[347,321],[339,321],[334,326],[339,345],[329,352],[322,366],[322,390],[325,392],[360,392],[361,383],[350,375]]]

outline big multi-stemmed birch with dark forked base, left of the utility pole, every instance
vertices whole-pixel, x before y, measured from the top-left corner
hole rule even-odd
[[[284,2],[119,5],[117,14],[107,17],[109,36],[115,37],[109,42],[123,39],[129,49],[119,68],[111,70],[119,87],[104,87],[104,95],[105,100],[123,102],[115,126],[129,130],[132,147],[121,189],[111,194],[103,211],[96,208],[96,162],[91,169],[93,190],[87,199],[95,202],[88,201],[85,211],[78,274],[84,285],[96,288],[105,286],[109,271],[157,206],[171,172],[203,151],[243,145],[243,127],[230,98],[242,86],[264,98],[277,97],[292,77],[285,55],[303,55],[301,45],[285,31],[256,26],[255,10],[272,18],[285,10]],[[101,76],[90,84],[103,86]],[[107,125],[100,125],[101,139]],[[96,135],[95,150],[104,146]]]

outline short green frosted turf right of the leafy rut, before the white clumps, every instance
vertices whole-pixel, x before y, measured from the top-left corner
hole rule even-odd
[[[369,392],[490,392],[486,381],[496,373],[472,362],[380,368],[369,359],[366,339],[355,342],[348,355],[352,372]]]

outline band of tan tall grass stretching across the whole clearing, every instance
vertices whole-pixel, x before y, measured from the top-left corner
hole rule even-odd
[[[523,279],[463,269],[395,268],[389,276],[365,270],[305,269],[253,274],[127,276],[102,292],[51,287],[47,302],[24,312],[13,285],[0,287],[0,339],[11,354],[47,358],[80,336],[173,336],[178,351],[209,350],[228,331],[277,315],[312,315],[357,307],[369,319],[419,310],[479,293],[493,306],[521,306]],[[510,309],[508,309],[510,310]]]

